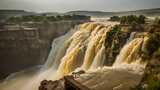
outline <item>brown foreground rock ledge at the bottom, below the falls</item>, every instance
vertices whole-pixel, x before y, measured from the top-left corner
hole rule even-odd
[[[88,87],[76,81],[73,76],[65,76],[56,81],[43,80],[39,90],[90,90]]]

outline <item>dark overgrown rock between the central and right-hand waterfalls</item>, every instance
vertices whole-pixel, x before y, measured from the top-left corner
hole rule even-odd
[[[126,43],[128,33],[121,31],[119,25],[115,25],[112,29],[106,33],[105,48],[107,65],[112,65],[119,54],[121,48]]]

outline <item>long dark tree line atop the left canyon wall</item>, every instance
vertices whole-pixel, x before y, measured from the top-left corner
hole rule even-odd
[[[21,17],[10,17],[7,22],[19,23],[19,22],[43,22],[43,21],[61,21],[61,20],[89,20],[90,16],[84,15],[63,15],[63,16],[47,16],[47,15],[28,15]]]

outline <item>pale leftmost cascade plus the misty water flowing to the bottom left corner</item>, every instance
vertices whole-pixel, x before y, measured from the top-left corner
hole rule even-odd
[[[72,29],[64,36],[60,36],[52,42],[52,49],[44,65],[11,74],[0,83],[0,90],[38,90],[39,83],[42,80],[55,80],[57,77],[54,74],[60,63],[58,60],[63,57],[63,52],[68,47],[65,41],[77,29],[78,27]]]

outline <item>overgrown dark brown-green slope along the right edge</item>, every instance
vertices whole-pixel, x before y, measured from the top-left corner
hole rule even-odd
[[[158,22],[157,22],[158,21]],[[156,23],[155,23],[156,22]],[[145,70],[145,76],[141,83],[132,90],[160,90],[160,26],[159,20],[148,25],[148,41],[146,50],[140,52],[143,60],[149,60]]]

